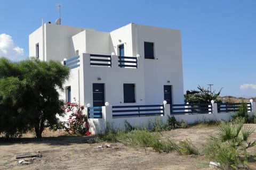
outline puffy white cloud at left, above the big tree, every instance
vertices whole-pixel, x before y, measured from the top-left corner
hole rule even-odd
[[[6,57],[12,61],[25,58],[24,49],[16,46],[10,35],[0,34],[0,57]]]

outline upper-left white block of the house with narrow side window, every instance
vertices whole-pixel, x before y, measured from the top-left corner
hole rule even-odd
[[[75,49],[71,37],[83,30],[85,29],[45,23],[29,35],[29,56],[36,56],[35,46],[39,43],[40,60],[62,61],[63,58],[73,57],[75,56]]]

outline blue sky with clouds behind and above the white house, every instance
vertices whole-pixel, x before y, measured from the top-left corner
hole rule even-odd
[[[128,23],[181,30],[184,91],[256,97],[256,1],[0,1],[0,56],[28,57],[28,36],[44,22],[112,31]]]

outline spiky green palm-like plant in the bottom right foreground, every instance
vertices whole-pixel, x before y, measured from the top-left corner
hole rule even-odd
[[[256,141],[250,141],[255,129],[245,126],[244,122],[244,118],[233,123],[221,122],[217,134],[209,138],[206,155],[220,163],[221,169],[236,169],[248,164],[246,149],[256,145]]]

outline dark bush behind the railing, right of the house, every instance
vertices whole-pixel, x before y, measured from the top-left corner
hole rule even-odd
[[[209,88],[204,89],[203,87],[198,86],[196,90],[187,90],[186,95],[184,95],[186,102],[190,104],[196,104],[196,103],[211,103],[211,100],[214,100],[216,103],[218,103],[218,97],[220,95],[220,92],[222,88],[219,90],[218,93],[215,93],[214,91],[210,91]]]

